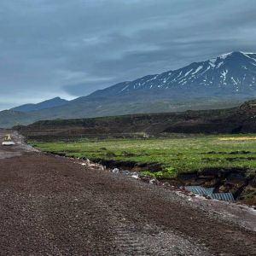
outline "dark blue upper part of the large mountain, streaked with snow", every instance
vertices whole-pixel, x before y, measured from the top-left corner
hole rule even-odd
[[[166,73],[113,85],[93,94],[124,95],[139,90],[234,93],[256,96],[256,53],[231,52]]]

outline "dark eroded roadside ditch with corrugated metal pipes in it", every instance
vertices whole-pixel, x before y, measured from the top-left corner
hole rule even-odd
[[[161,168],[158,163],[142,165],[128,161],[95,161],[103,166],[107,166],[107,168],[128,169],[132,172],[142,172],[145,170],[154,172]],[[184,187],[188,191],[198,195],[205,195],[211,199],[243,201],[249,205],[256,205],[255,171],[251,172],[251,175],[248,175],[248,173],[248,170],[243,168],[208,168],[200,172],[180,173],[175,178],[159,179],[159,181],[160,183],[169,183],[176,187]],[[212,193],[196,193],[198,189],[210,189]]]

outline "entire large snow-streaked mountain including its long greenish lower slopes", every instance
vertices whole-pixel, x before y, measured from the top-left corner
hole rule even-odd
[[[232,52],[174,71],[115,84],[61,106],[30,112],[24,112],[24,108],[0,112],[0,127],[16,122],[27,125],[41,119],[233,108],[256,98],[255,80],[256,54]],[[19,113],[14,113],[17,110]]]

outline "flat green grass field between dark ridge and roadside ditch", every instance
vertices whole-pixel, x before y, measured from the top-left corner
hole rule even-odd
[[[44,152],[90,160],[160,163],[156,176],[175,177],[178,172],[215,168],[256,169],[256,137],[186,136],[137,139],[83,139],[76,142],[30,142]],[[160,171],[160,172],[159,172]]]

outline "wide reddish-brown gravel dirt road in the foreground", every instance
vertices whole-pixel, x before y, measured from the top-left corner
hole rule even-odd
[[[20,139],[0,146],[0,255],[256,254],[251,209],[183,198]]]

